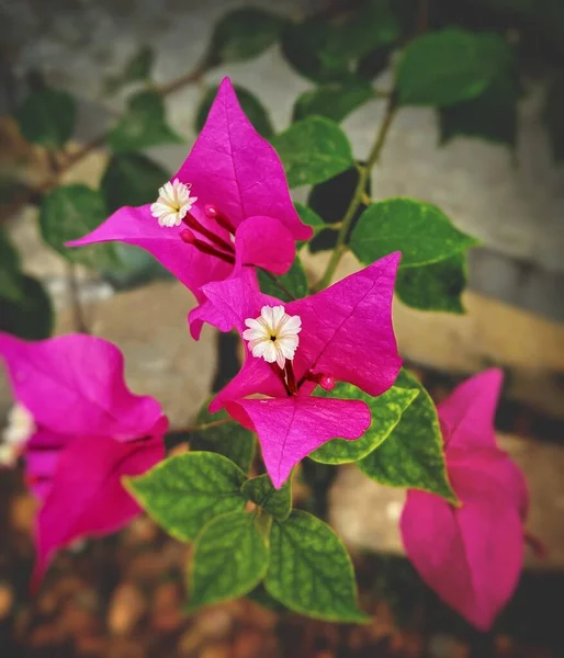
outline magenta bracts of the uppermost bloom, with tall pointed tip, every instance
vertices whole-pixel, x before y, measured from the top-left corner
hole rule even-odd
[[[183,224],[159,226],[150,204],[120,208],[92,232],[68,245],[120,240],[140,247],[203,304],[203,285],[236,276],[241,268],[260,266],[283,274],[294,260],[295,240],[312,237],[312,228],[302,223],[294,208],[275,150],[245,116],[228,78],[219,86],[200,137],[171,181],[176,179],[191,184],[198,197],[190,211],[193,219],[224,242],[233,240],[234,262],[183,241],[181,234],[187,229]],[[155,200],[157,195],[155,190]],[[206,209],[210,205],[227,219],[233,238],[224,225],[210,216]],[[205,235],[196,237],[213,246]],[[196,339],[202,324],[198,314],[190,317]],[[225,330],[223,325],[218,328]]]

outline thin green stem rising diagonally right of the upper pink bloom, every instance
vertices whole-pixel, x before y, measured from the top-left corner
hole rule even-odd
[[[347,234],[349,232],[352,220],[354,219],[354,215],[357,214],[357,211],[361,206],[363,197],[366,194],[366,183],[369,181],[370,173],[380,158],[387,134],[390,132],[390,126],[392,125],[392,121],[395,116],[396,109],[397,107],[395,104],[395,94],[392,93],[387,99],[384,118],[382,120],[382,124],[380,125],[380,129],[377,132],[374,145],[370,150],[366,163],[359,166],[359,182],[357,183],[357,188],[352,195],[349,207],[347,208],[345,217],[342,218],[339,235],[337,236],[337,243],[331,253],[331,258],[327,263],[327,268],[325,270],[324,275],[317,283],[317,285],[315,285],[314,292],[323,291],[330,284],[331,279],[335,275],[335,271],[337,270],[337,266],[342,258],[342,254],[347,251],[347,245],[345,243],[345,240],[347,239]]]

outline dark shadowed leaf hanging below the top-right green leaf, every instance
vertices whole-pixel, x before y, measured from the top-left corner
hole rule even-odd
[[[441,143],[465,135],[515,146],[517,98],[514,77],[504,73],[476,99],[443,107],[439,113]]]

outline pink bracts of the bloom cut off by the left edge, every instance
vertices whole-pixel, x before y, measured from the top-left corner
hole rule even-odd
[[[0,354],[14,398],[37,427],[24,452],[29,485],[42,503],[37,586],[58,548],[114,532],[140,511],[121,477],[163,458],[168,421],[154,398],[129,392],[121,352],[100,338],[26,342],[0,333]]]

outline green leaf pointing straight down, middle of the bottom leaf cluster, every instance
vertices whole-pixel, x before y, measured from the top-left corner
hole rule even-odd
[[[189,570],[189,611],[244,597],[262,580],[269,554],[255,515],[230,512],[213,519],[194,542]]]

